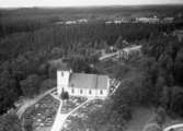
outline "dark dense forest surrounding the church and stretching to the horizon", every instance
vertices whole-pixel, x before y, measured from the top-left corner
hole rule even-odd
[[[12,108],[20,96],[34,97],[56,85],[56,69],[49,64],[49,61],[67,58],[69,66],[76,72],[101,73],[90,67],[99,63],[96,50],[110,46],[122,48],[122,43],[126,39],[130,44],[142,45],[144,57],[135,63],[140,76],[125,85],[130,86],[130,93],[126,91],[129,95],[122,97],[121,93],[124,91],[117,92],[108,109],[115,110],[115,115],[121,115],[119,105],[125,100],[128,106],[135,103],[161,106],[170,114],[176,112],[183,116],[183,103],[180,100],[183,98],[183,45],[171,35],[173,31],[183,28],[181,22],[105,25],[96,21],[81,25],[52,24],[59,21],[60,16],[61,20],[69,20],[92,14],[89,15],[90,19],[104,20],[106,15],[117,15],[123,10],[125,10],[122,13],[124,15],[130,15],[135,11],[141,14],[144,10],[147,15],[148,12],[153,12],[153,8],[114,9],[105,9],[106,12],[104,9],[95,11],[85,9],[85,13],[79,9],[72,9],[77,10],[76,13],[69,9],[1,10],[0,115]],[[162,10],[159,7],[153,13],[165,15],[167,10],[169,8]],[[180,11],[182,12],[179,7],[173,8],[169,13],[173,15]],[[121,78],[121,73],[118,69],[116,76]]]

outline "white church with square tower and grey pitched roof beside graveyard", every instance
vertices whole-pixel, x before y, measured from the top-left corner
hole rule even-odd
[[[70,96],[105,98],[110,92],[107,75],[73,73],[71,70],[57,70],[57,92],[68,92]]]

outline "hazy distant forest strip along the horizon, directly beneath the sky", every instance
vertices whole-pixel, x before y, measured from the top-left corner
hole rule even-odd
[[[96,17],[111,17],[111,15],[170,15],[175,16],[178,12],[182,12],[182,5],[134,5],[134,7],[90,7],[90,8],[22,8],[13,10],[0,9],[2,15],[61,15],[70,19],[75,16],[83,16],[89,19],[91,14]]]

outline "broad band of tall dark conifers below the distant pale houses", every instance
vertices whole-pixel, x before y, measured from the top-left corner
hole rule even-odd
[[[67,53],[82,47],[99,47],[101,43],[114,45],[118,36],[135,41],[147,39],[151,34],[158,35],[160,32],[173,29],[174,27],[171,25],[149,24],[52,26],[2,38],[0,40],[0,59],[14,58],[31,49],[43,51],[50,50],[53,47],[60,47]]]

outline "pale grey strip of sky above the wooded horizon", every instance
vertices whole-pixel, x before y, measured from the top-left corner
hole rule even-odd
[[[183,0],[0,0],[1,8],[183,4]]]

